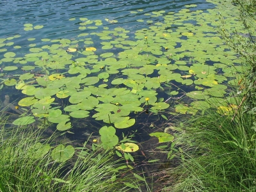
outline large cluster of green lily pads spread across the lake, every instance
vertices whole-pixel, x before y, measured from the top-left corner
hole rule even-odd
[[[29,44],[25,53],[12,42],[20,35],[1,38],[0,88],[15,86],[24,97],[19,106],[27,111],[13,124],[45,118],[59,131],[68,131],[72,118],[92,116],[111,125],[100,129],[104,134],[99,132],[108,148],[118,143],[115,129],[136,124],[132,114],[170,112],[173,97],[188,97],[188,103],[174,106],[182,114],[210,108],[204,100],[210,97],[223,105],[227,83],[237,81],[241,60],[216,33],[217,9],[189,10],[195,6],[175,13],[146,13],[147,20],[138,20],[145,28],[137,31],[111,28],[109,23],[117,20],[72,18],[69,22],[79,20],[81,29],[76,39],[42,38],[42,43]],[[225,16],[233,28],[236,21]],[[103,26],[101,32],[96,30],[98,26]],[[43,26],[24,27],[29,35],[29,30]],[[33,40],[28,38],[28,42]],[[13,49],[16,53],[9,51]],[[162,142],[173,140],[167,133],[152,136]]]

